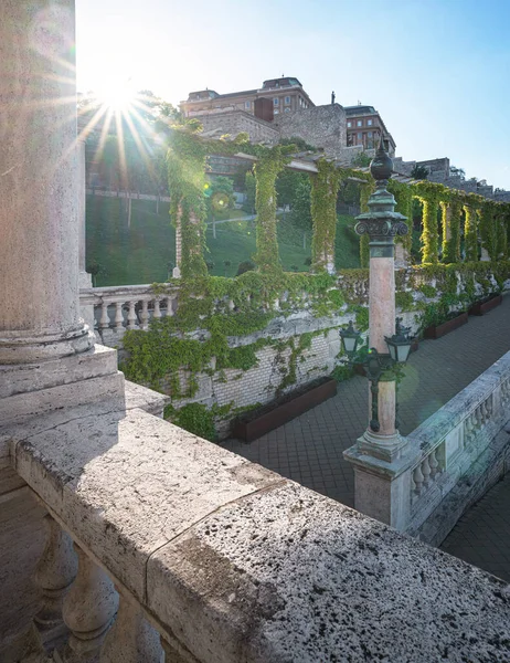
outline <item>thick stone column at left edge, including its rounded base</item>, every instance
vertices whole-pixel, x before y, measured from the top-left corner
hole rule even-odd
[[[79,317],[74,0],[0,3],[0,365],[88,349]]]

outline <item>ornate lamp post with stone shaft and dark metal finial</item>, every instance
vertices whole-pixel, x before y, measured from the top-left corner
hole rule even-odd
[[[411,348],[407,329],[399,325],[395,334],[395,235],[407,234],[406,217],[395,212],[395,199],[386,189],[393,161],[384,150],[383,139],[370,165],[375,192],[370,211],[360,214],[355,232],[370,238],[369,338],[370,351],[364,361],[371,381],[370,423],[358,440],[358,450],[383,461],[399,457],[405,445],[396,429],[396,383],[391,367],[405,361]]]

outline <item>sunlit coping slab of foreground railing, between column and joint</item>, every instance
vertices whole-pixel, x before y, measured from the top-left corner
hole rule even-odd
[[[225,503],[281,481],[141,410],[79,414],[14,443],[15,467],[139,599],[156,549]]]

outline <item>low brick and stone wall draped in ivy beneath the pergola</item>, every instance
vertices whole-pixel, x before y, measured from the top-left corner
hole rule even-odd
[[[397,311],[419,333],[501,292],[510,263],[418,265],[395,276]],[[153,285],[155,297],[168,287]],[[152,319],[147,332],[105,329],[102,340],[123,348],[128,379],[171,397],[172,421],[214,438],[238,413],[302,383],[346,377],[338,332],[351,319],[366,332],[368,297],[368,270],[200,278],[180,284],[176,315]]]

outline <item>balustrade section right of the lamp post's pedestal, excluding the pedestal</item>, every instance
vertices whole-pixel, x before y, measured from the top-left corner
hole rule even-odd
[[[407,438],[406,532],[440,543],[470,504],[506,471],[510,420],[510,352]]]

